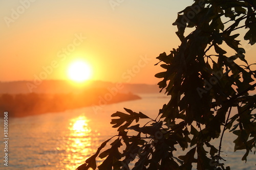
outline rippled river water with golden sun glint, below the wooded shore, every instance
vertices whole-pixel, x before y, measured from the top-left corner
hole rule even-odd
[[[84,107],[58,113],[22,118],[9,118],[8,166],[4,165],[4,119],[0,119],[0,169],[8,170],[74,170],[94,154],[100,144],[117,134],[112,128],[111,114],[123,107],[155,118],[168,98],[163,94],[141,94],[141,100],[102,107]],[[247,163],[241,161],[244,152],[233,153],[234,137],[224,138],[222,157],[231,169],[255,169],[255,155]],[[226,156],[228,154],[228,156]]]

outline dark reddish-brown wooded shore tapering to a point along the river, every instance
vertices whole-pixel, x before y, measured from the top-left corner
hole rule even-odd
[[[118,93],[107,89],[88,89],[82,93],[25,93],[0,94],[0,111],[9,116],[24,117],[59,112],[92,105],[106,105],[140,99],[132,93]],[[1,114],[3,117],[3,114]]]

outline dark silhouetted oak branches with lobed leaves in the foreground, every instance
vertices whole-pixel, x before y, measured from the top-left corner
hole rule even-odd
[[[105,141],[77,169],[96,169],[98,155],[105,158],[98,166],[104,170],[191,169],[195,165],[201,170],[230,169],[221,157],[222,139],[228,130],[237,136],[234,151],[245,151],[242,160],[253,150],[255,154],[256,95],[249,93],[256,86],[256,71],[246,61],[238,40],[243,37],[251,45],[256,42],[255,7],[256,1],[251,0],[196,0],[179,12],[173,25],[178,27],[181,44],[170,54],[157,57],[165,69],[156,74],[163,79],[158,85],[170,96],[169,102],[155,119],[129,109],[114,113],[111,124],[119,134],[111,148],[99,154],[109,140]],[[187,36],[186,28],[192,30]],[[238,61],[244,64],[238,65]],[[131,126],[140,119],[148,119],[148,123]],[[216,139],[220,143],[213,145]],[[186,154],[175,155],[178,148]]]

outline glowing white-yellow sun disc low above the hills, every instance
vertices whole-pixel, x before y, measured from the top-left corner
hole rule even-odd
[[[91,75],[91,67],[84,61],[74,61],[68,68],[69,79],[76,82],[86,81],[91,78]]]

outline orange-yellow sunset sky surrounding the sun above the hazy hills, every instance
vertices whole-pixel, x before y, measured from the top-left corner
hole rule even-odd
[[[70,64],[80,60],[90,65],[92,80],[156,84],[154,75],[162,70],[154,66],[156,57],[180,44],[172,23],[177,12],[191,4],[191,0],[1,1],[0,81],[40,76],[67,80]],[[248,56],[255,54],[248,49]]]

